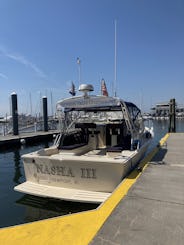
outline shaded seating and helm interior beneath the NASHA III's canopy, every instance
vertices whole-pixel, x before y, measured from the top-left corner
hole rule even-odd
[[[106,149],[107,152],[130,150],[131,135],[127,131],[125,120],[99,124],[77,122],[73,130],[62,134],[58,149],[74,150],[85,145],[90,150]]]

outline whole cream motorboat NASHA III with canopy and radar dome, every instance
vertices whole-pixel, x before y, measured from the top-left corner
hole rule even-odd
[[[54,144],[22,156],[26,181],[16,191],[87,203],[104,202],[143,158],[152,138],[140,109],[118,97],[83,94],[57,103]]]

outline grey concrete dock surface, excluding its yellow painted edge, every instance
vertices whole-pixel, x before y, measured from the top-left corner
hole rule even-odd
[[[184,134],[171,134],[90,244],[183,244]]]

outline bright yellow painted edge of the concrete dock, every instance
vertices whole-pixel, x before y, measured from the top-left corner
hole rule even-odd
[[[159,145],[162,146],[169,134],[166,134]],[[155,147],[139,164],[143,170],[158,152]],[[120,200],[127,194],[130,187],[141,175],[136,169],[122,181],[109,199],[99,208],[62,217],[37,221],[29,224],[0,229],[0,244],[3,245],[86,245],[93,239],[105,220]],[[7,214],[8,215],[8,214]]]

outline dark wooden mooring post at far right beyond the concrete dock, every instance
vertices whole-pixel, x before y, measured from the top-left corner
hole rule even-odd
[[[170,100],[169,104],[169,132],[176,132],[176,102],[175,99]]]

